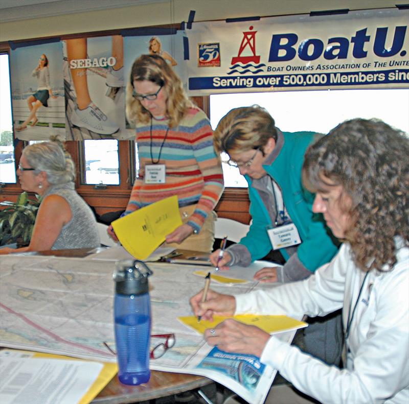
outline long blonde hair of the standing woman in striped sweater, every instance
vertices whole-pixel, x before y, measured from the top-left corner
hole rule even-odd
[[[188,99],[180,78],[172,67],[158,55],[141,55],[133,62],[129,82],[126,86],[126,117],[135,125],[137,122],[149,123],[151,114],[141,102],[133,97],[133,82],[151,81],[163,86],[166,91],[166,116],[169,118],[169,127],[177,126],[193,106]]]

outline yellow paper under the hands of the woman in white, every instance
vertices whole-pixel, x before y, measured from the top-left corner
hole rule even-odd
[[[197,317],[195,316],[179,317],[178,319],[183,324],[199,332],[199,334],[204,334],[206,329],[214,328],[228,318],[233,318],[244,324],[255,325],[263,331],[268,332],[268,334],[276,334],[277,332],[304,328],[308,325],[303,321],[298,321],[287,316],[259,316],[253,314],[239,314],[233,317],[213,316],[213,321],[202,319],[200,322],[197,321]]]

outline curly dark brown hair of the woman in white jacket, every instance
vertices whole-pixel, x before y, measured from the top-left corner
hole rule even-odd
[[[315,193],[342,185],[351,206],[345,239],[364,271],[396,263],[396,239],[409,245],[409,139],[378,120],[357,118],[332,129],[305,154],[303,181]],[[340,200],[342,195],[340,196]],[[339,202],[339,201],[338,201]]]

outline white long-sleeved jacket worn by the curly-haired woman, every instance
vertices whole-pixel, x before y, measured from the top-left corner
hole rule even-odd
[[[392,271],[370,271],[359,295],[365,275],[355,266],[349,244],[344,244],[330,264],[306,280],[237,295],[236,313],[312,317],[343,307],[344,330],[350,328],[344,369],[328,366],[274,336],[261,362],[321,402],[408,403],[409,249],[399,248]]]

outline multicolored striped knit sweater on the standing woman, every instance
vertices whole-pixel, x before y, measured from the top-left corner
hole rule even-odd
[[[125,214],[177,195],[179,207],[197,203],[187,223],[199,232],[223,192],[223,173],[213,148],[213,131],[208,117],[198,108],[190,108],[179,126],[169,129],[164,141],[167,128],[168,120],[152,118],[151,148],[150,123],[137,125],[140,171]],[[146,184],[145,164],[152,164],[152,159],[156,163],[162,144],[158,163],[166,165],[166,181]]]

